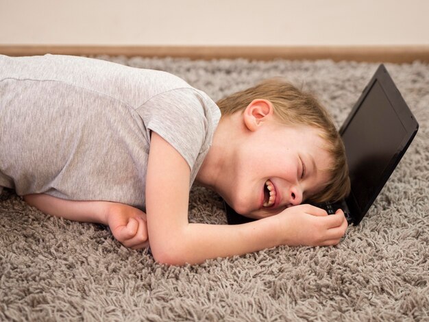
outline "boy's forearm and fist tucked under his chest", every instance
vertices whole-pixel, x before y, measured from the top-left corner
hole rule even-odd
[[[45,194],[25,195],[30,206],[52,216],[108,225],[114,238],[126,247],[141,249],[149,245],[146,214],[123,203],[109,201],[74,201]]]

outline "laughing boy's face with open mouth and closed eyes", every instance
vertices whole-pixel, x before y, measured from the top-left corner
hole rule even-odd
[[[318,133],[311,127],[270,123],[249,134],[238,151],[230,206],[260,219],[319,192],[328,180],[331,158]]]

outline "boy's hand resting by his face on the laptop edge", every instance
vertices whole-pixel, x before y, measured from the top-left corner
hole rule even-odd
[[[311,205],[287,208],[278,216],[284,230],[284,245],[289,246],[337,245],[348,225],[343,210],[328,216],[325,210]]]

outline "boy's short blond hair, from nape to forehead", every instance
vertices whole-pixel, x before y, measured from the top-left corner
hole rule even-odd
[[[244,111],[254,99],[267,99],[273,104],[273,112],[286,125],[305,125],[319,129],[325,140],[323,147],[330,153],[332,164],[330,179],[320,193],[308,197],[307,202],[339,201],[350,193],[350,178],[343,140],[328,112],[310,93],[299,90],[282,79],[267,79],[247,90],[236,92],[217,102],[222,116]]]

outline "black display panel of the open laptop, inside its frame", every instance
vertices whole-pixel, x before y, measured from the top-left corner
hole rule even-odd
[[[406,134],[381,84],[374,82],[342,134],[352,194],[360,210],[373,202],[384,170],[397,157]]]

